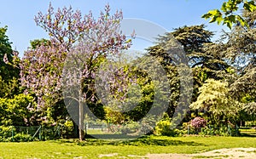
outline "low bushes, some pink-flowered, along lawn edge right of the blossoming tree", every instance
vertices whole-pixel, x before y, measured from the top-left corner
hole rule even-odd
[[[147,125],[146,125],[147,126]],[[146,126],[139,124],[138,122],[126,122],[125,124],[108,124],[103,129],[108,128],[110,133],[119,134],[144,134],[148,131]],[[143,132],[144,131],[144,132]],[[182,126],[173,128],[171,120],[167,117],[157,122],[154,131],[154,135],[165,136],[183,136],[187,134],[198,135],[218,135],[218,136],[238,136],[239,130],[234,125],[207,125],[207,121],[202,117],[195,117],[190,122],[183,122]]]

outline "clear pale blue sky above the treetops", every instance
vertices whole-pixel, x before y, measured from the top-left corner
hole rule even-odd
[[[8,0],[1,1],[0,6],[0,26],[8,26],[9,40],[13,43],[21,56],[29,42],[33,39],[47,38],[43,29],[35,25],[34,15],[38,11],[46,13],[49,2],[55,9],[63,6],[72,6],[79,9],[83,14],[88,14],[92,10],[97,17],[100,10],[109,3],[111,9],[122,9],[124,18],[137,18],[152,21],[172,31],[179,26],[192,26],[206,24],[207,29],[216,31],[218,38],[221,29],[228,30],[224,26],[209,24],[207,20],[201,18],[202,14],[209,9],[218,9],[223,1],[218,0]],[[139,43],[138,48],[147,47],[148,43]]]

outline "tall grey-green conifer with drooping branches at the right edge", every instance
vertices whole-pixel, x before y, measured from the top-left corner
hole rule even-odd
[[[253,120],[255,116],[255,20],[256,11],[253,3],[245,3],[241,17],[247,22],[248,27],[237,23],[230,32],[224,32],[220,43],[217,43],[219,54],[224,54],[230,67],[225,81],[229,82],[229,94],[236,100],[238,110],[236,120]]]

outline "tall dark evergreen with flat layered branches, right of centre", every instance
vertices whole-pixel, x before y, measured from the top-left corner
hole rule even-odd
[[[172,32],[166,33],[164,36],[157,38],[157,43],[147,48],[148,54],[154,56],[160,61],[160,64],[166,69],[171,86],[171,105],[168,114],[172,116],[180,95],[179,77],[177,65],[175,62],[175,51],[166,52],[168,46],[173,45],[173,38],[179,42],[184,50],[185,56],[188,58],[188,65],[194,72],[194,95],[193,100],[198,96],[198,88],[200,88],[207,78],[221,79],[224,72],[227,71],[229,65],[224,61],[224,55],[214,51],[218,47],[212,43],[212,31],[207,31],[206,26],[183,26],[174,29]],[[177,54],[180,55],[180,54]]]

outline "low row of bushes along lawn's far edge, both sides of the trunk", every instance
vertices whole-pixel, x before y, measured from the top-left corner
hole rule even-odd
[[[129,122],[125,125],[112,125],[109,128],[112,133],[143,133],[142,126],[137,122]],[[65,122],[63,125],[55,125],[52,127],[13,127],[0,126],[0,141],[32,141],[32,140],[47,140],[68,138],[72,136],[73,123]],[[147,129],[145,127],[145,129]],[[146,130],[145,130],[146,131]],[[187,134],[199,135],[218,135],[218,136],[237,136],[239,135],[238,128],[231,125],[212,126],[207,125],[207,122],[201,118],[196,117],[190,122],[183,122],[183,125],[178,128],[172,128],[172,122],[169,119],[162,120],[157,123],[153,133],[155,135],[165,136],[183,136]]]

